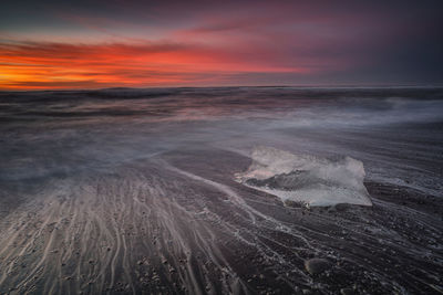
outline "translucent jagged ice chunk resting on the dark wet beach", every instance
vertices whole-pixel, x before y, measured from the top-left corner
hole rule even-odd
[[[363,164],[351,157],[319,158],[272,147],[256,147],[253,164],[236,180],[307,206],[350,203],[372,206],[363,185]]]

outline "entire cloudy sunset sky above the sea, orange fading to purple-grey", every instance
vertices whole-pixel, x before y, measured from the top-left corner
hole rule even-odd
[[[4,1],[0,89],[442,85],[443,1]]]

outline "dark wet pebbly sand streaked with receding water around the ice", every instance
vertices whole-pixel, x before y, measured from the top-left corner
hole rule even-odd
[[[440,198],[367,182],[372,208],[307,209],[237,183],[249,164],[187,149],[21,192],[0,220],[0,294],[442,292]],[[312,257],[328,268],[309,274]]]

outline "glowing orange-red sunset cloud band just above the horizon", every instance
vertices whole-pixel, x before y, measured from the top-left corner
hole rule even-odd
[[[216,84],[241,73],[307,73],[247,52],[184,43],[0,43],[0,88],[97,88]]]

